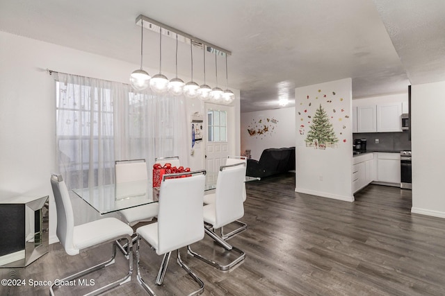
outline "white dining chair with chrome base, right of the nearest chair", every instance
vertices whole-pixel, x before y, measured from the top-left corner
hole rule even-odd
[[[188,245],[188,253],[198,259],[213,265],[220,270],[229,270],[245,259],[245,253],[230,245],[222,237],[216,234],[215,229],[224,227],[244,216],[243,183],[245,180],[245,164],[231,164],[221,166],[216,180],[215,202],[204,206],[204,232],[213,238],[229,252],[236,252],[239,256],[225,265],[197,254]]]

